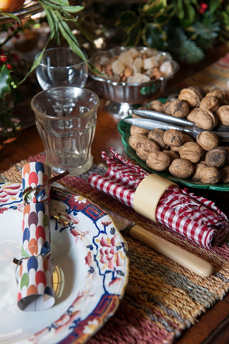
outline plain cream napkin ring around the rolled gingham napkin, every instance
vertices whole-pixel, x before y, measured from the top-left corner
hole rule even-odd
[[[149,218],[155,223],[156,208],[161,196],[170,186],[176,186],[175,183],[167,180],[157,174],[149,174],[138,185],[133,198],[133,207],[135,212]]]

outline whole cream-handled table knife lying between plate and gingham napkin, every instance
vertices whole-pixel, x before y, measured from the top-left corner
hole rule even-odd
[[[114,213],[112,210],[103,206],[101,206],[101,208],[110,216],[119,231],[123,231],[124,234],[140,240],[142,243],[152,247],[157,252],[160,252],[186,269],[196,273],[196,275],[209,277],[214,271],[212,265],[208,261],[157,236],[156,234],[149,232],[149,230],[146,230],[135,222]]]

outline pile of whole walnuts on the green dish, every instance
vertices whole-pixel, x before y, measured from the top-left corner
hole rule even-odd
[[[153,100],[150,108],[175,117],[186,117],[200,128],[196,142],[181,131],[131,126],[130,146],[151,169],[168,171],[179,178],[215,184],[229,183],[229,147],[219,146],[218,136],[208,130],[217,121],[229,125],[229,93],[214,89],[207,94],[199,87],[191,86],[181,91],[177,100],[162,104]],[[225,105],[223,105],[225,104]],[[133,117],[137,117],[133,115]]]

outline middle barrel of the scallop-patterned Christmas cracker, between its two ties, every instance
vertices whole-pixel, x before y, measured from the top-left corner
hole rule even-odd
[[[29,203],[23,210],[22,256],[50,254],[50,218],[48,205]]]

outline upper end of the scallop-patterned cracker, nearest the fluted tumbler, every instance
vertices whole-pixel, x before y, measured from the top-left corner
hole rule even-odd
[[[50,186],[46,186],[35,198],[36,189],[50,179],[51,168],[42,162],[30,162],[22,168],[22,189],[23,191],[32,186],[33,190],[23,195],[24,204],[28,203],[49,203]]]

